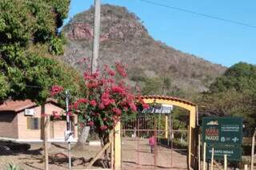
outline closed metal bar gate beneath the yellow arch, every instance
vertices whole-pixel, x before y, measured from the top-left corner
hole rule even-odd
[[[187,168],[187,130],[174,130],[166,116],[123,117],[122,169]]]

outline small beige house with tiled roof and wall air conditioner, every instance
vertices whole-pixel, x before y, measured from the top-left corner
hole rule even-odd
[[[6,101],[0,105],[0,138],[16,141],[42,141],[44,114],[50,117],[47,127],[49,141],[65,141],[66,116],[54,119],[53,113],[63,114],[65,110],[50,99],[45,105],[33,101]],[[74,141],[78,138],[77,115],[71,117]]]

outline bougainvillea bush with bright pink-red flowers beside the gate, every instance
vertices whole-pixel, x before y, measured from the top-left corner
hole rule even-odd
[[[126,85],[126,77],[125,65],[118,62],[113,69],[104,65],[102,72],[91,73],[88,69],[83,74],[85,95],[70,106],[73,113],[78,113],[82,125],[88,125],[97,132],[103,145],[108,142],[110,131],[122,116],[135,113],[137,105],[148,107],[139,97],[138,90]],[[53,95],[61,91],[58,85],[52,88]]]

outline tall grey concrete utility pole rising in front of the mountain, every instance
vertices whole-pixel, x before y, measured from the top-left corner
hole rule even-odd
[[[98,51],[101,25],[101,0],[94,0],[94,47],[91,60],[91,73],[96,72],[98,68]]]

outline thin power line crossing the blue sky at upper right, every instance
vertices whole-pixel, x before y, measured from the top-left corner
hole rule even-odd
[[[209,14],[202,14],[202,13],[198,13],[198,12],[195,12],[195,11],[192,11],[192,10],[186,10],[186,9],[178,8],[178,7],[175,7],[175,6],[169,6],[169,5],[158,3],[158,2],[151,2],[151,1],[148,1],[148,0],[140,0],[140,1],[152,4],[152,5],[155,5],[155,6],[163,6],[163,7],[172,9],[172,10],[178,10],[178,11],[185,12],[185,13],[196,14],[198,16],[211,18],[211,19],[216,19],[216,20],[219,20],[219,21],[222,21],[222,22],[230,22],[230,23],[237,24],[237,25],[240,25],[240,26],[247,26],[247,27],[256,29],[256,26],[246,24],[244,22],[238,22],[238,21],[234,21],[234,20],[230,20],[230,19],[226,19],[226,18],[219,18],[219,17],[215,17],[215,16],[212,16],[212,15],[209,15]]]

